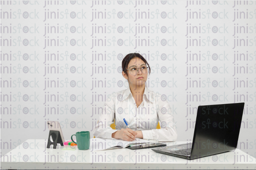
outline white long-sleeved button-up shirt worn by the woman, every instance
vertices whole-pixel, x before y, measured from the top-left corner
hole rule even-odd
[[[123,118],[131,130],[142,132],[143,139],[162,142],[177,139],[173,115],[166,96],[155,94],[146,86],[143,101],[138,108],[129,87],[113,92],[104,103],[103,112],[92,130],[93,135],[95,138],[114,139],[111,137],[112,133],[126,128]],[[114,120],[115,130],[110,127]],[[161,129],[156,129],[158,121]]]

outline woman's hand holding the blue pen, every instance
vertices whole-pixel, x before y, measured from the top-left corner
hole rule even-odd
[[[123,141],[134,141],[136,138],[137,132],[132,131],[129,128],[121,129],[112,133],[112,138],[121,139]]]

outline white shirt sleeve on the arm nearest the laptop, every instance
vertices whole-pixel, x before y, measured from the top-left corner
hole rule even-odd
[[[156,102],[156,108],[158,108],[156,109],[156,112],[160,121],[161,129],[142,131],[143,139],[151,139],[159,142],[176,141],[176,126],[169,103],[166,100],[162,102],[158,98],[158,102]]]

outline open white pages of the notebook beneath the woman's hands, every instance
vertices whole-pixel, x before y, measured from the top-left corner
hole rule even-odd
[[[146,144],[151,143],[152,140],[145,140],[136,138],[134,141],[123,141],[120,139],[100,139],[100,138],[90,138],[90,148],[93,151],[104,151],[111,149],[122,149],[134,144]]]

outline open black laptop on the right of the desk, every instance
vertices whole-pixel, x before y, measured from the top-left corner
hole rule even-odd
[[[236,149],[244,103],[198,106],[192,143],[152,151],[187,160]]]

